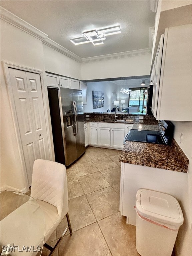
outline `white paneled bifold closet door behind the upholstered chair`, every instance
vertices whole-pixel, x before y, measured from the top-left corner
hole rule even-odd
[[[9,68],[29,186],[36,159],[50,159],[40,75]]]

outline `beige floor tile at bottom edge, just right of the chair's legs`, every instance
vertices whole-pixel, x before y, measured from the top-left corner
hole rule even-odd
[[[111,255],[97,223],[75,231],[72,236],[65,236],[58,249],[60,256]]]

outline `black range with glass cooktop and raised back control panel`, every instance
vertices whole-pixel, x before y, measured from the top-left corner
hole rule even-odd
[[[170,121],[164,120],[159,120],[158,123],[158,131],[131,129],[124,138],[124,145],[126,141],[138,141],[170,145],[173,137],[174,125]]]

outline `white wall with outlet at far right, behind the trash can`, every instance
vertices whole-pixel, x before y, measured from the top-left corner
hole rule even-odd
[[[178,232],[175,250],[178,256],[192,255],[192,122],[172,122],[175,126],[174,139],[189,159],[188,173],[181,180],[180,204],[184,215],[184,224]],[[180,134],[183,133],[182,144],[179,143]]]

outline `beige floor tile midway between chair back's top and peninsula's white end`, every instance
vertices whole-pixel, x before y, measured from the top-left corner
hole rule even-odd
[[[81,176],[78,179],[85,194],[110,186],[100,172]]]

